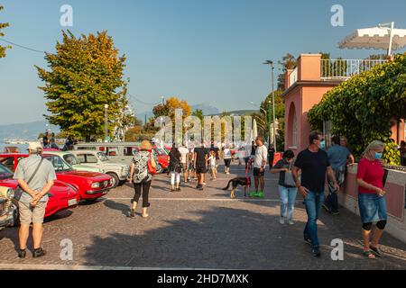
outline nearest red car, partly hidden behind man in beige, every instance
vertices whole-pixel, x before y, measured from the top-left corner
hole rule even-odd
[[[0,164],[0,186],[17,188],[17,180],[13,179],[13,172]],[[56,180],[50,190],[51,196],[45,208],[45,217],[49,217],[58,211],[74,208],[78,205],[78,190],[70,184]],[[15,217],[17,217],[16,213]],[[14,224],[17,218],[14,220]]]

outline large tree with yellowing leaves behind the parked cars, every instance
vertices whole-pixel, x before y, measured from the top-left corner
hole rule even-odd
[[[105,104],[108,104],[109,131],[113,133],[120,112],[128,100],[127,82],[123,79],[125,55],[119,56],[113,39],[106,31],[81,35],[63,33],[56,54],[47,53],[49,70],[37,67],[45,82],[48,111],[44,115],[62,131],[89,141],[103,135]]]

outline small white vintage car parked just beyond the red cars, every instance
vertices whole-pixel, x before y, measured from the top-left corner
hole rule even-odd
[[[124,163],[111,161],[106,154],[94,150],[73,150],[69,153],[75,154],[80,164],[93,166],[101,169],[102,173],[113,177],[113,187],[125,184],[130,173],[130,166]]]

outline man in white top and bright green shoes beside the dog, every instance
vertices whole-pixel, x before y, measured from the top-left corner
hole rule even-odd
[[[256,149],[254,157],[254,184],[255,184],[255,193],[251,193],[252,197],[263,198],[263,188],[265,186],[265,181],[263,179],[266,160],[268,157],[268,150],[263,145],[263,138],[257,137],[255,139]],[[258,191],[258,185],[261,184],[261,190]]]

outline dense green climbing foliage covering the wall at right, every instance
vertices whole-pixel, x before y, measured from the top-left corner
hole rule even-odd
[[[406,55],[403,54],[328,91],[308,117],[315,129],[320,129],[323,121],[331,121],[332,132],[345,135],[355,156],[360,157],[374,139],[392,142],[393,122],[406,118],[405,107]],[[393,145],[387,145],[384,157],[392,165],[399,164],[399,153],[393,151]]]

